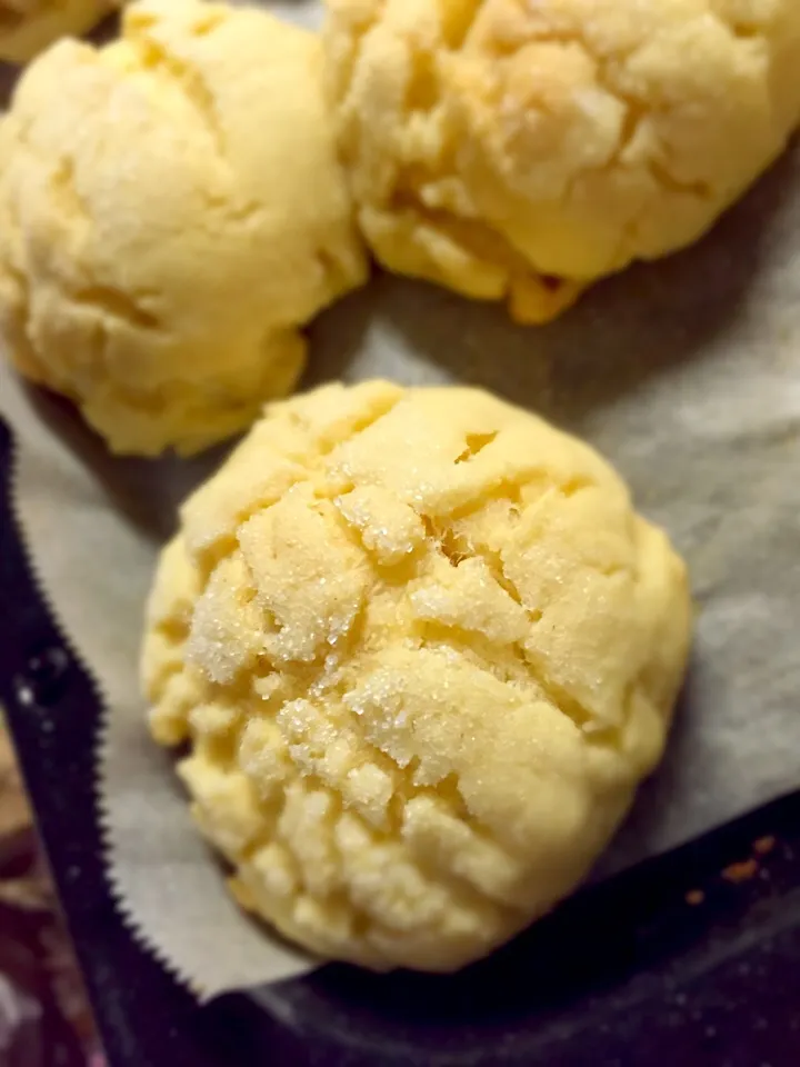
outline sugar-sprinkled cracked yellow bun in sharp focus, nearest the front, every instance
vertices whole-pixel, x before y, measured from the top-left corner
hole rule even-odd
[[[183,507],[143,678],[244,907],[450,970],[603,848],[689,632],[683,564],[588,446],[477,390],[332,385]]]

